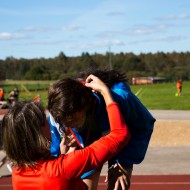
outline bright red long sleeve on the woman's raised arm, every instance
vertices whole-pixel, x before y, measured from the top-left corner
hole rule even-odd
[[[130,139],[130,133],[116,103],[107,106],[111,127],[110,134],[90,146],[60,156],[63,172],[68,178],[81,176],[84,172],[97,168],[117,154]]]

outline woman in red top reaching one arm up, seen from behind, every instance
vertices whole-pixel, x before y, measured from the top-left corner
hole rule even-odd
[[[3,150],[13,164],[13,189],[87,190],[80,176],[102,165],[128,143],[129,129],[109,88],[93,75],[87,78],[85,86],[102,95],[110,132],[84,149],[68,153],[70,136],[64,133],[60,144],[62,154],[58,157],[50,155],[53,139],[45,110],[38,102],[18,102],[5,114],[2,121]],[[73,116],[67,115],[65,122]],[[66,128],[63,126],[62,130]]]

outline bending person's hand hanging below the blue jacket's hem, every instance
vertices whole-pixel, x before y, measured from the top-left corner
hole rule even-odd
[[[117,163],[109,168],[105,182],[108,183],[107,189],[127,190],[130,187],[130,176],[127,171]]]

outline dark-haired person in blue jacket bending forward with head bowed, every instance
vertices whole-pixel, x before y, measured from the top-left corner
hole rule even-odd
[[[51,153],[60,154],[63,132],[72,133],[83,148],[109,132],[110,126],[103,97],[92,93],[83,83],[89,74],[99,77],[110,88],[113,99],[131,133],[131,140],[122,151],[108,161],[108,189],[129,189],[133,164],[143,161],[153,132],[155,118],[131,91],[125,74],[115,70],[80,73],[76,78],[57,81],[48,93],[48,121],[51,127]],[[81,176],[89,189],[97,188],[100,168]],[[87,182],[87,183],[88,183]]]

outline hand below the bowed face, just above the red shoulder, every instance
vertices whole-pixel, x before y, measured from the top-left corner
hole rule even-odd
[[[73,152],[76,149],[76,140],[73,137],[72,134],[62,136],[62,141],[60,143],[60,152],[61,154],[68,154],[70,152]]]

